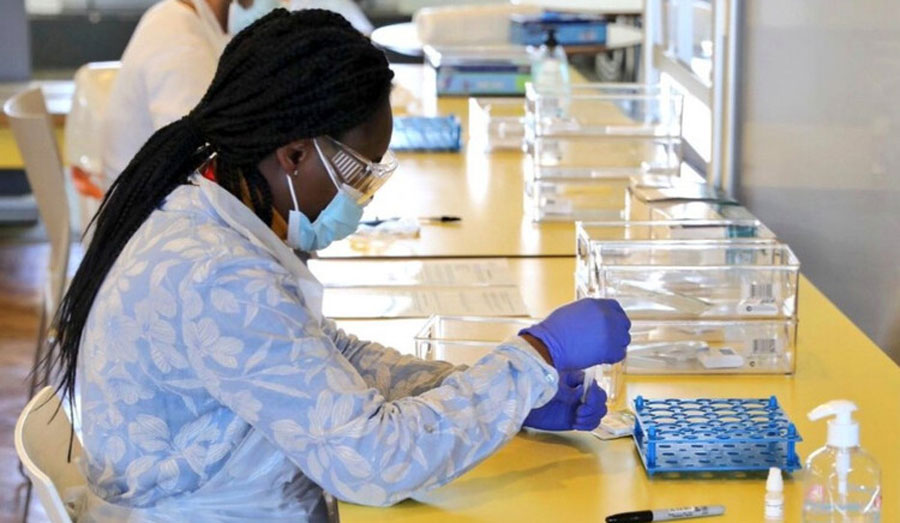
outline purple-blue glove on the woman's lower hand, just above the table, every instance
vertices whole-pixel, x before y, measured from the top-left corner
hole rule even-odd
[[[522,425],[541,430],[594,430],[606,415],[606,393],[592,382],[582,402],[583,381],[581,371],[561,372],[556,395],[533,409]]]

